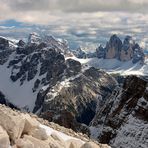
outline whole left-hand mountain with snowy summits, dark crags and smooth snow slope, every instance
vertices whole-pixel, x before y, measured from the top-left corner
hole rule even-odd
[[[27,42],[15,43],[1,37],[0,47],[0,82],[5,83],[0,90],[18,108],[32,111],[38,91],[49,83],[55,85],[67,68],[64,56],[71,54],[68,44],[52,36],[32,33]],[[15,86],[10,87],[12,84]],[[12,90],[7,90],[9,87]],[[20,91],[15,96],[17,90]],[[23,93],[29,94],[26,103],[19,101]]]

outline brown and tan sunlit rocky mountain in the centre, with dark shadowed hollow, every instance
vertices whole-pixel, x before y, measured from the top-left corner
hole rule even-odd
[[[89,125],[98,104],[111,95],[117,82],[110,75],[93,67],[82,70],[80,64],[74,64],[74,67],[78,68],[72,67],[71,65],[70,74],[64,75],[68,76],[67,78],[48,89],[44,96],[41,116],[67,128],[78,130],[78,123]],[[73,73],[72,71],[76,69],[77,72]]]

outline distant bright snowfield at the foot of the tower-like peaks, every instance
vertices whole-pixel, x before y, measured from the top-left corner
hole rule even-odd
[[[81,64],[87,64],[95,68],[100,68],[108,73],[119,73],[121,75],[141,75],[148,76],[148,59],[144,65],[140,63],[133,64],[132,61],[121,62],[117,59],[78,59],[76,57],[68,57],[79,61]],[[68,59],[67,58],[67,59]]]

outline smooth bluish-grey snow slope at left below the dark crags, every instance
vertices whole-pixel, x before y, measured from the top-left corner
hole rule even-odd
[[[14,54],[10,56],[8,62],[4,65],[0,65],[0,91],[5,95],[7,100],[17,107],[21,109],[27,107],[29,111],[32,111],[37,97],[37,91],[32,92],[36,77],[29,82],[25,81],[21,86],[19,80],[12,82],[10,79],[11,69],[7,68],[7,66],[9,61],[13,59],[13,56]]]

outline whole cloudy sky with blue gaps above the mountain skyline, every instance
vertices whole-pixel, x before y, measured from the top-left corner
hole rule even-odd
[[[0,35],[31,31],[95,48],[113,33],[132,35],[147,48],[148,0],[0,0]]]

